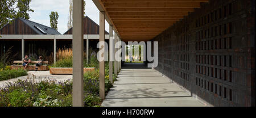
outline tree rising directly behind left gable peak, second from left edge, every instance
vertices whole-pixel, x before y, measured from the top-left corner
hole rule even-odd
[[[34,12],[34,10],[30,9],[30,2],[31,0],[17,0],[17,6],[18,12],[16,14],[16,18],[24,18],[24,19],[30,19],[30,16],[28,12]]]

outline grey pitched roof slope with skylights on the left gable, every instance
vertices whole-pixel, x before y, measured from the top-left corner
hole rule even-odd
[[[31,29],[33,29],[36,33],[38,33],[38,35],[61,35],[61,33],[56,31],[56,29],[44,26],[43,24],[32,22],[24,18],[18,18],[18,19],[26,23]]]

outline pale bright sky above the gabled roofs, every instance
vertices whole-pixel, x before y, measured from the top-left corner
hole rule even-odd
[[[99,24],[100,14],[92,0],[85,0],[85,15],[89,16],[94,22]],[[57,11],[59,14],[58,31],[63,34],[68,31],[69,0],[32,0],[30,8],[34,12],[29,12],[30,19],[33,22],[51,27],[49,14],[51,11]],[[109,24],[105,20],[105,30],[109,32]]]

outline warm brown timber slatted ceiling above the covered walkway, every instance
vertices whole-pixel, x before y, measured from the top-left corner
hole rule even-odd
[[[208,0],[98,0],[123,41],[148,41]]]

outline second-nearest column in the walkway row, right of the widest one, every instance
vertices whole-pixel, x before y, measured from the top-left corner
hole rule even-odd
[[[100,42],[105,41],[105,12],[100,11]],[[105,53],[105,47],[100,47]],[[104,57],[102,57],[104,58]],[[100,61],[100,98],[105,99],[105,62]]]

